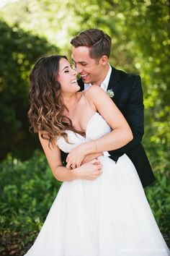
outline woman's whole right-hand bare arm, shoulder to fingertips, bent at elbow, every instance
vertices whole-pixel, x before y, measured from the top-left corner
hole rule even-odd
[[[86,90],[84,96],[91,104],[91,107],[96,109],[107,121],[112,128],[112,132],[109,132],[107,135],[97,140],[84,142],[74,148],[66,159],[68,163],[67,167],[69,167],[70,164],[80,166],[85,155],[116,150],[126,145],[130,140],[133,140],[133,133],[128,122],[104,90],[99,88],[99,86],[93,85]],[[112,115],[110,113],[112,113]]]

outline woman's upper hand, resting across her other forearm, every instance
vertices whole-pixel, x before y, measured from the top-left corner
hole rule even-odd
[[[81,166],[82,161],[84,160],[85,156],[88,154],[89,150],[89,142],[84,142],[76,148],[71,150],[71,153],[68,154],[66,158],[67,168],[76,168]]]

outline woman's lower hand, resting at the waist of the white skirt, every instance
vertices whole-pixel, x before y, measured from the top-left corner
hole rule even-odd
[[[88,179],[93,181],[102,174],[102,164],[98,159],[93,159],[76,168],[75,173],[79,179]]]

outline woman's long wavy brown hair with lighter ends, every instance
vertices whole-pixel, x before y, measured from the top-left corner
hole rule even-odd
[[[66,129],[84,135],[77,131],[69,119],[63,116],[66,106],[61,95],[61,85],[57,80],[60,60],[66,56],[54,55],[41,57],[30,72],[30,119],[33,132],[40,132],[49,144],[54,143],[58,136],[63,136],[68,142]]]

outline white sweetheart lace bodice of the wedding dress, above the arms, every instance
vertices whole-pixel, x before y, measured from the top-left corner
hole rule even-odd
[[[107,124],[107,121],[105,121],[99,113],[95,112],[88,121],[86,127],[86,137],[83,137],[76,132],[67,130],[68,141],[71,142],[71,144],[66,142],[64,137],[58,137],[56,142],[62,151],[70,153],[73,148],[82,142],[96,140],[99,137],[106,135],[110,131],[111,128],[109,127],[109,124]]]

